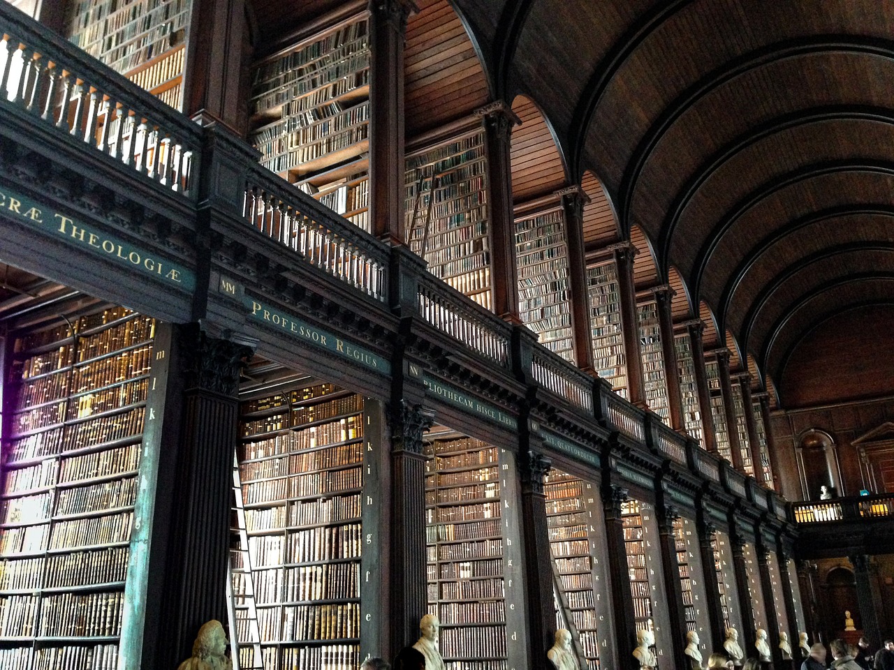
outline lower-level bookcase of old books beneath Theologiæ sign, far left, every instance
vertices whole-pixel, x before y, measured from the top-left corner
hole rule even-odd
[[[110,307],[13,340],[0,666],[117,666],[125,603],[139,589],[131,536],[148,526],[138,482],[155,481],[142,444],[155,325]]]

